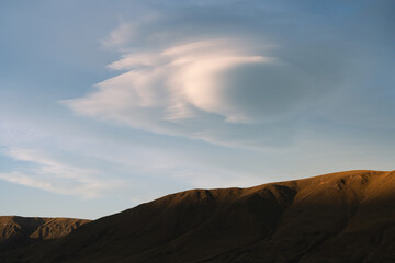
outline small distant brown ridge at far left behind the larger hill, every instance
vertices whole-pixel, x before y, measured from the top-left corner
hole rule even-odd
[[[64,237],[88,221],[70,218],[2,216],[0,217],[0,252]]]

